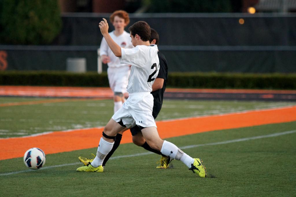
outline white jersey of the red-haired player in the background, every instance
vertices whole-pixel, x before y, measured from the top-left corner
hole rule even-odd
[[[131,43],[131,37],[130,34],[126,31],[123,31],[123,33],[119,36],[115,36],[114,31],[109,33],[111,38],[118,44],[121,48],[133,48],[133,45]],[[110,47],[108,46],[105,38],[102,39],[101,45],[100,45],[100,55],[107,55],[110,57],[110,62],[107,63],[109,67],[115,68],[115,67],[121,67],[121,66],[128,66],[127,64],[121,64],[118,57],[114,55]]]

